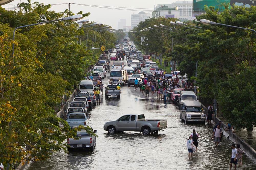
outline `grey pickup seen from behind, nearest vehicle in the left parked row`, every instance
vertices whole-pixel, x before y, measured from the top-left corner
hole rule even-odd
[[[73,128],[75,128],[74,126]],[[97,133],[97,130],[93,130],[94,133]],[[70,149],[90,149],[91,151],[94,150],[96,146],[96,137],[93,135],[89,135],[86,130],[81,129],[77,131],[77,136],[79,139],[68,138],[67,143],[69,145],[68,150]]]

